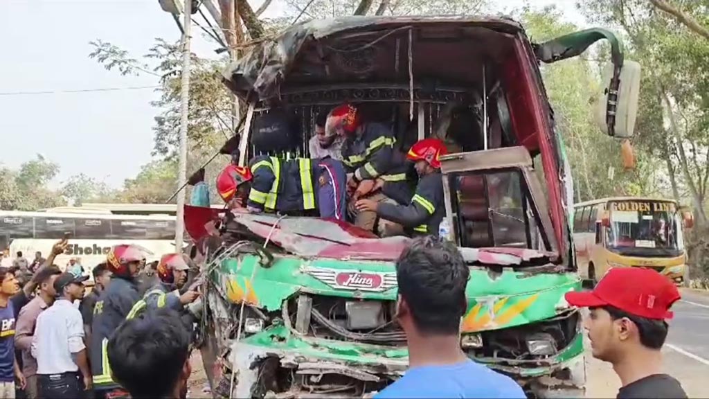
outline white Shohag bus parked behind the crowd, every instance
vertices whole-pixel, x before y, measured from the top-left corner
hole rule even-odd
[[[108,209],[62,207],[45,212],[0,211],[0,251],[14,258],[22,251],[32,262],[36,251],[47,257],[58,240],[69,234],[69,247],[55,258],[65,268],[76,258],[85,273],[106,260],[118,244],[145,248],[146,261],[157,261],[174,252],[175,217],[169,214],[113,214]]]

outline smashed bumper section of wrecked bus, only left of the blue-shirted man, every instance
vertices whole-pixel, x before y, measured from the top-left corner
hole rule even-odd
[[[406,349],[284,336],[278,330],[232,344],[233,398],[370,398],[408,367]],[[264,346],[264,340],[272,345]]]

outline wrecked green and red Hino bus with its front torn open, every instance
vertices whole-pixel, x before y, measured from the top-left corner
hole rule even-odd
[[[536,44],[508,18],[300,23],[224,72],[247,104],[240,163],[264,152],[252,126],[277,107],[303,135],[271,155],[308,156],[315,115],[342,102],[391,126],[402,151],[443,138],[452,149],[442,159],[449,239],[471,270],[462,349],[532,397],[583,397],[581,320],[564,300],[581,289],[570,172],[538,65],[602,38],[613,62],[597,119],[623,138],[635,123],[639,65],[624,62],[607,31]],[[203,235],[214,212],[186,208],[190,235]],[[201,352],[215,397],[371,397],[403,375],[394,264],[408,238],[277,214],[227,214],[218,229],[200,244],[208,277]]]

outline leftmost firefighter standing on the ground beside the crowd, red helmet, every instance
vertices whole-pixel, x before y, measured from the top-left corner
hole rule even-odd
[[[113,331],[123,320],[130,317],[135,302],[140,300],[135,276],[145,263],[145,253],[136,246],[118,245],[111,248],[106,256],[106,265],[111,270],[111,284],[101,292],[94,308],[94,322],[91,324],[91,373],[94,375],[96,398],[121,391],[121,387],[111,378],[108,366],[106,344]]]

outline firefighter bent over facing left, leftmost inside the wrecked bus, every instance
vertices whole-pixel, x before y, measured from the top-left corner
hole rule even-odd
[[[318,209],[320,217],[345,219],[345,168],[332,158],[252,158],[249,167],[227,165],[217,191],[237,212],[298,212]]]

